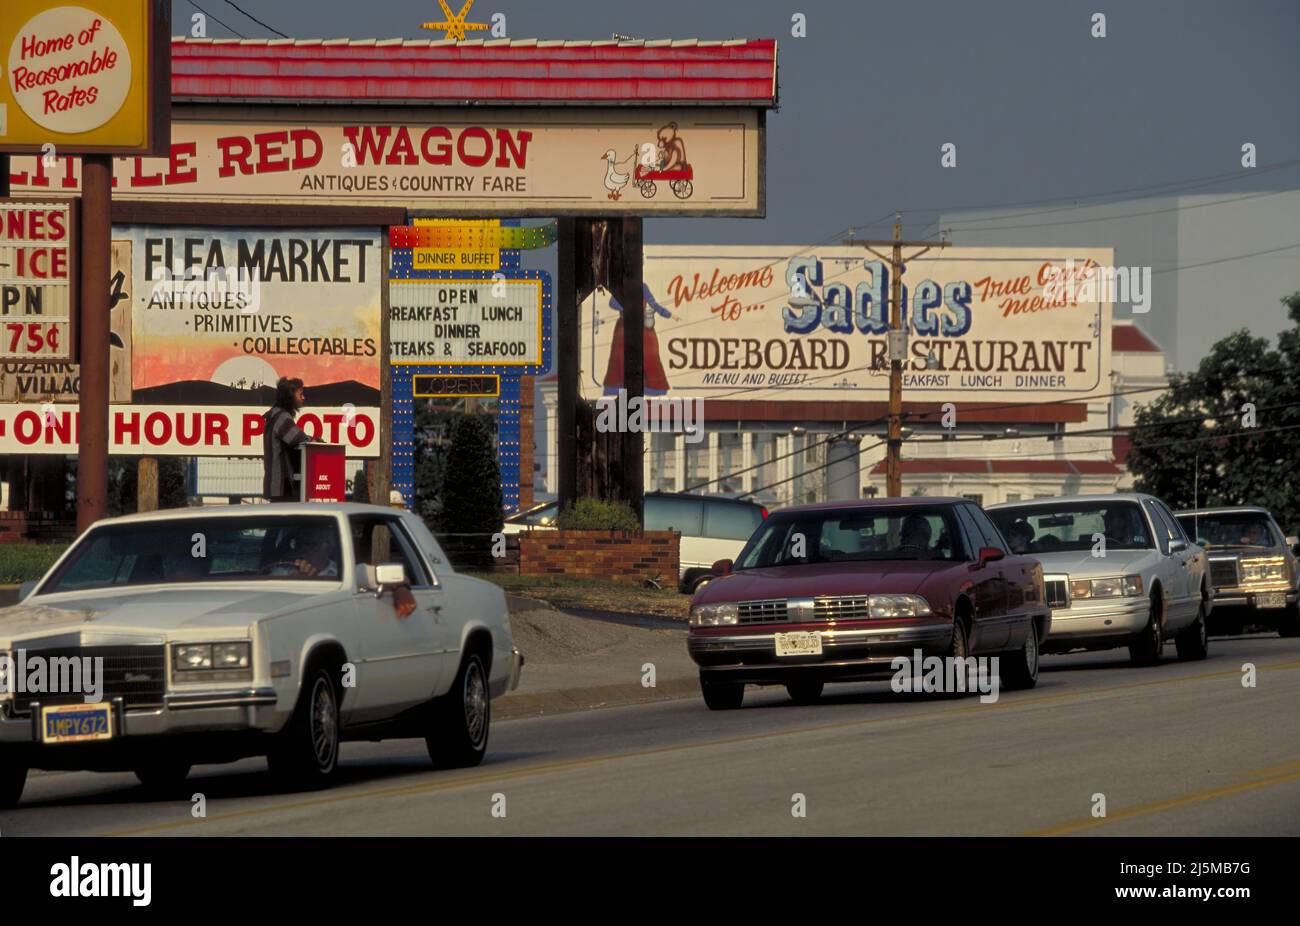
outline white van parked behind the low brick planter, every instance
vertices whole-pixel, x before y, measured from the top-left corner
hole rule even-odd
[[[504,533],[554,531],[555,502],[538,505],[506,519]],[[692,496],[679,492],[646,493],[646,531],[681,533],[679,588],[694,593],[714,577],[712,564],[734,559],[767,509],[754,502],[722,496]]]

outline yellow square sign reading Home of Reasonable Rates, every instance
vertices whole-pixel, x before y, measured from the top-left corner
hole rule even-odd
[[[169,21],[162,0],[5,0],[0,152],[165,153]]]

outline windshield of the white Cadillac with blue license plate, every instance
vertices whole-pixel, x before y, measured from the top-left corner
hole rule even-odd
[[[91,531],[39,594],[228,580],[338,581],[332,518],[185,518]]]

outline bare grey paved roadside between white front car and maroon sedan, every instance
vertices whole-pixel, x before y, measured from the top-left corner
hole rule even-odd
[[[682,622],[567,614],[515,596],[510,605],[524,672],[519,688],[493,704],[493,719],[699,696]],[[642,684],[646,663],[654,688]]]

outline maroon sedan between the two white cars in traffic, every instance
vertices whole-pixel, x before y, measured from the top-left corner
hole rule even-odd
[[[998,655],[1002,687],[1031,688],[1050,629],[1043,568],[963,498],[823,502],[767,518],[690,605],[690,655],[714,710],[746,684],[811,702],[827,681],[894,675],[916,650]]]

